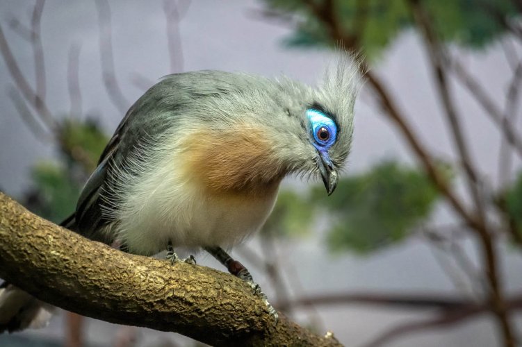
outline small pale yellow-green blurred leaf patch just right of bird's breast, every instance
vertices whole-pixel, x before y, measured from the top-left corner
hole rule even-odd
[[[307,198],[284,190],[279,192],[277,203],[262,232],[277,236],[306,235],[310,232],[314,206]]]

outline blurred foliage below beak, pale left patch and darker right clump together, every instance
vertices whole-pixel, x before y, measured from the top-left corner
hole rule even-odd
[[[448,167],[440,164],[439,169],[449,180]],[[408,237],[429,216],[437,197],[437,189],[422,171],[384,162],[343,178],[332,196],[326,196],[323,185],[306,196],[280,192],[263,230],[301,236],[317,217],[326,217],[332,251],[365,254]]]

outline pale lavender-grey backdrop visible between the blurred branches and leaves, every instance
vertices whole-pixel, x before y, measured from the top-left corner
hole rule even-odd
[[[0,22],[20,66],[33,79],[33,56],[30,46],[7,28],[11,17],[27,23],[32,1],[1,1]],[[156,81],[168,74],[169,60],[165,37],[165,17],[161,1],[111,1],[113,46],[116,73],[129,103],[142,90],[131,83],[131,76],[139,73]],[[184,61],[183,70],[221,69],[247,71],[266,76],[286,74],[307,83],[315,83],[323,67],[331,58],[323,51],[286,49],[282,38],[290,32],[284,24],[256,19],[261,3],[256,1],[193,1],[179,26]],[[67,51],[73,42],[81,44],[80,81],[83,109],[99,115],[108,133],[122,118],[111,104],[101,81],[99,63],[97,14],[92,1],[48,1],[42,17],[42,38],[46,52],[47,102],[51,110],[65,114],[70,108],[66,84]],[[461,53],[468,67],[479,71],[480,81],[494,95],[503,96],[509,76],[503,56],[497,46],[478,54]],[[407,110],[410,120],[423,135],[423,141],[439,155],[452,158],[452,144],[446,135],[446,124],[439,114],[439,103],[428,83],[425,56],[414,33],[402,34],[386,51],[377,65],[386,81],[394,86],[393,94],[401,97],[400,106]],[[29,182],[29,168],[38,160],[54,155],[51,146],[33,139],[13,104],[6,96],[11,78],[3,60],[0,62],[0,187],[17,196]],[[465,111],[464,126],[471,140],[473,155],[480,168],[496,177],[496,163],[500,137],[480,108],[459,90],[459,109]],[[364,171],[371,164],[386,158],[412,162],[409,151],[395,133],[393,126],[370,107],[371,99],[363,94],[357,104],[355,140],[348,172]],[[501,103],[502,104],[502,103]],[[306,183],[295,183],[300,189]],[[443,208],[437,218],[447,221],[451,214]],[[451,293],[455,289],[434,259],[433,250],[421,239],[386,249],[370,257],[353,255],[330,256],[323,246],[320,230],[313,237],[279,246],[286,252],[290,271],[284,276],[300,278],[302,289],[295,295],[338,291],[439,291]],[[256,241],[250,245],[254,249]],[[473,245],[468,251],[474,257]],[[522,259],[520,254],[503,252],[505,278],[509,289],[522,288]],[[250,266],[254,277],[270,297],[272,289],[266,279]],[[263,285],[264,283],[264,285]],[[375,310],[372,307],[317,307],[322,327],[331,329],[344,344],[358,346],[377,333],[404,319],[422,319],[426,312]],[[298,314],[305,322],[307,311]],[[400,339],[389,346],[496,346],[496,330],[489,320],[482,318],[448,330],[427,332]],[[519,321],[520,322],[520,321]],[[519,331],[521,330],[519,324]],[[54,319],[47,330],[29,332],[60,336],[61,321]],[[110,345],[117,329],[108,323],[90,321],[89,341]],[[138,346],[154,346],[174,335],[142,330]],[[1,344],[2,337],[0,337]]]

